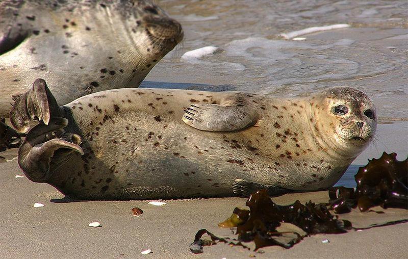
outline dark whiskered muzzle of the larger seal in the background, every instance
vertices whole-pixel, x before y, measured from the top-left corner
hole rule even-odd
[[[143,23],[146,26],[146,32],[157,41],[168,41],[173,46],[179,44],[184,37],[182,25],[169,17],[155,17],[151,15],[143,16]]]

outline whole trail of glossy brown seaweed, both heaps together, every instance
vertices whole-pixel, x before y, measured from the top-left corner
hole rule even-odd
[[[201,253],[202,246],[214,245],[217,242],[249,249],[243,242],[251,241],[255,244],[255,251],[273,245],[291,248],[305,236],[341,234],[350,229],[368,229],[407,222],[405,219],[368,228],[355,228],[351,222],[339,220],[337,215],[330,213],[349,213],[356,207],[361,212],[366,212],[378,205],[385,209],[408,209],[408,158],[398,161],[396,156],[396,153],[384,152],[381,158],[369,160],[355,175],[357,188],[330,188],[328,203],[316,204],[309,201],[301,204],[296,200],[290,205],[278,205],[271,200],[267,190],[254,192],[246,201],[249,211],[235,208],[230,218],[218,224],[219,227],[237,227],[237,239],[219,238],[208,230],[201,229],[197,232],[190,250],[193,253]],[[202,238],[205,234],[209,235],[209,240]]]

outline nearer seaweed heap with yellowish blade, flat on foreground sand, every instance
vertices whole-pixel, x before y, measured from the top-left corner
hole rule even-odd
[[[351,223],[331,215],[326,204],[309,201],[303,205],[297,200],[290,205],[278,205],[271,200],[267,190],[259,190],[252,193],[246,202],[249,212],[235,208],[230,218],[218,224],[219,227],[237,227],[238,239],[219,238],[201,229],[190,250],[202,252],[203,245],[213,245],[216,241],[240,246],[244,246],[242,242],[253,241],[255,250],[273,245],[291,248],[308,235],[346,232]],[[211,242],[201,239],[204,234],[211,237]]]

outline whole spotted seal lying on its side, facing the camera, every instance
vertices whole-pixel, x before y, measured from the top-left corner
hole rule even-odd
[[[349,87],[303,98],[119,89],[58,106],[45,81],[14,103],[28,132],[18,163],[81,199],[270,195],[333,186],[376,130],[373,102]]]

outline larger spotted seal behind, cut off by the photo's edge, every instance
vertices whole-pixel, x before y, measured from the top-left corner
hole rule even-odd
[[[182,39],[180,23],[150,1],[2,1],[0,116],[38,76],[60,105],[138,87]]]

